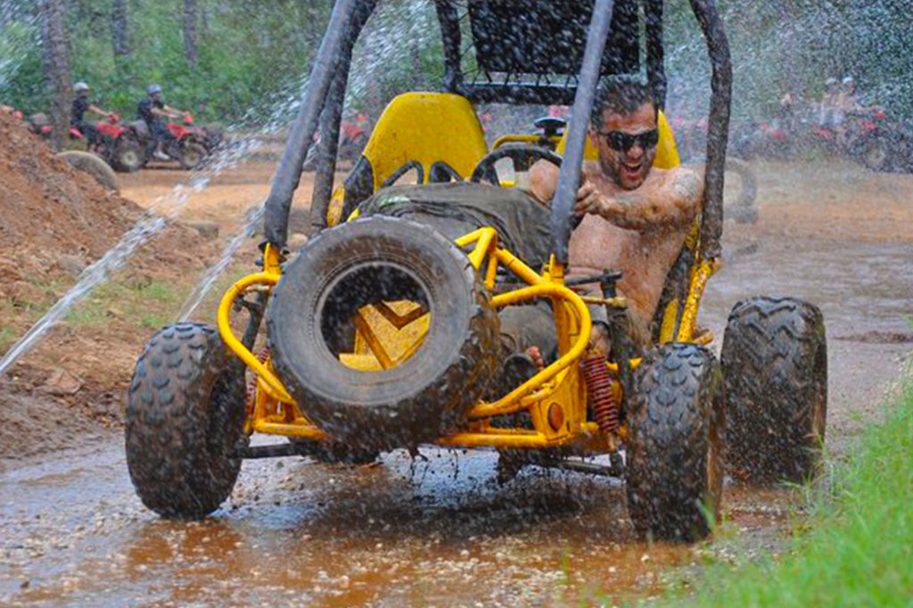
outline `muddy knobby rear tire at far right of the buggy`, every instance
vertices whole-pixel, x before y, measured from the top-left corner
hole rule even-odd
[[[827,417],[821,310],[792,298],[742,301],[729,313],[720,356],[732,472],[759,482],[813,476]]]

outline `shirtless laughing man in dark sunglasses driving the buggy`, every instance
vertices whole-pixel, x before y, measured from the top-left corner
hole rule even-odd
[[[568,276],[620,270],[623,278],[618,288],[628,301],[628,330],[645,345],[666,275],[700,210],[703,181],[686,167],[653,167],[659,141],[657,110],[639,79],[614,79],[600,89],[593,103],[590,139],[599,150],[599,160],[583,164],[575,212],[585,217],[571,236]],[[530,174],[530,194],[542,204],[551,204],[558,175],[555,165],[538,162]],[[593,341],[604,343],[605,310],[602,306],[590,309]],[[534,347],[551,350],[551,344],[541,343],[543,332],[533,336],[529,318],[520,321],[522,326],[512,321],[502,315],[502,332],[514,334],[512,343],[518,350],[529,351],[540,362]],[[553,332],[553,321],[549,324]],[[518,336],[514,325],[525,336]]]

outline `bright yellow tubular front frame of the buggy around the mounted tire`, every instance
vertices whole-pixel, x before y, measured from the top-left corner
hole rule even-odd
[[[561,264],[552,258],[541,274],[536,272],[508,250],[498,247],[497,232],[490,227],[456,239],[456,245],[471,247],[467,257],[483,276],[489,289],[495,287],[498,267],[507,268],[528,284],[527,287],[494,296],[491,304],[495,308],[531,299],[551,299],[561,356],[558,361],[497,401],[474,406],[468,413],[467,430],[441,437],[436,443],[441,446],[498,448],[537,448],[575,443],[582,444],[588,450],[614,449],[615,437],[605,436],[595,423],[586,420],[585,389],[575,363],[587,351],[593,322],[583,299],[564,286],[564,268]],[[708,262],[696,265],[692,271],[691,289],[679,328],[680,339],[687,341],[693,332],[698,302],[714,269],[715,265]],[[306,408],[301,409],[295,403],[273,371],[271,363],[268,360],[260,362],[236,338],[229,323],[229,314],[238,298],[250,290],[271,291],[280,278],[278,252],[268,246],[264,252],[263,272],[239,279],[228,289],[218,309],[218,330],[226,347],[257,374],[257,398],[253,411],[248,413],[245,428],[248,433],[327,439],[327,435],[307,419]],[[636,367],[639,362],[633,360],[632,367]],[[609,367],[611,371],[617,372],[616,366],[610,364]],[[556,406],[561,408],[565,420],[557,429],[551,428],[546,422],[549,408]],[[533,429],[495,428],[490,425],[492,416],[521,411],[530,413]]]

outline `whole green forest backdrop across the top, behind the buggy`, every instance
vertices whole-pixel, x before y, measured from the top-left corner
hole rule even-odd
[[[72,83],[132,117],[152,82],[205,121],[256,126],[299,97],[331,0],[0,0],[0,103],[68,111]],[[355,51],[349,104],[376,113],[397,92],[437,89],[440,33],[429,0],[382,0]],[[719,0],[737,118],[776,113],[787,90],[820,98],[853,76],[864,100],[913,116],[909,0]],[[708,64],[686,0],[666,2],[669,106],[706,112]],[[289,114],[290,115],[290,114]]]

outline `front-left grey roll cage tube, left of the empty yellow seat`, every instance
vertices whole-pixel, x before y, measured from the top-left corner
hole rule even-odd
[[[356,9],[361,8],[367,16],[373,12],[375,0],[337,0],[333,5],[327,32],[320,42],[320,49],[310,70],[308,88],[301,98],[298,117],[292,123],[289,141],[279,161],[276,177],[266,203],[263,227],[268,243],[282,249],[289,235],[289,208],[292,196],[298,188],[301,167],[317,131],[320,112],[327,99],[336,68],[343,57],[344,45],[352,44],[358,37],[353,23],[359,21]],[[363,23],[363,22],[362,22]]]

